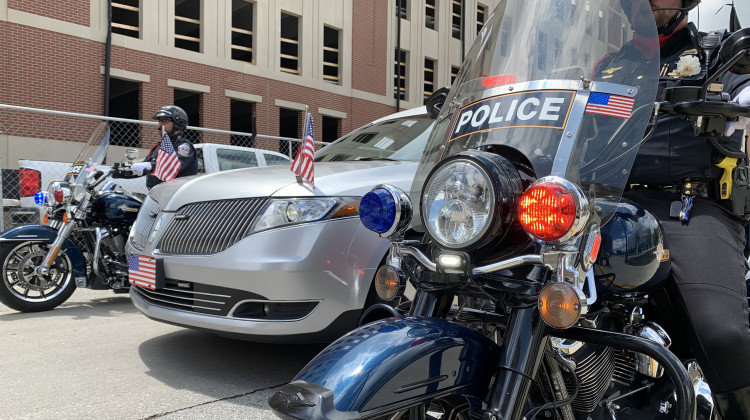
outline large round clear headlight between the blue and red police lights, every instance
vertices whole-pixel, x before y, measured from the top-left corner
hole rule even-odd
[[[436,168],[422,193],[425,227],[440,245],[464,248],[490,229],[495,211],[490,175],[475,161],[455,159]]]

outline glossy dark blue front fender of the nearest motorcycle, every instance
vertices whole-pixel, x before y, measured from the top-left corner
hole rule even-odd
[[[429,396],[482,400],[500,348],[466,327],[428,317],[364,325],[320,352],[269,404],[283,418],[359,418]]]

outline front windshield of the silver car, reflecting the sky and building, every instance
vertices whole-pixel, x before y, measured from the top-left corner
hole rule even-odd
[[[381,121],[354,130],[315,154],[316,162],[419,162],[435,120],[426,115]]]

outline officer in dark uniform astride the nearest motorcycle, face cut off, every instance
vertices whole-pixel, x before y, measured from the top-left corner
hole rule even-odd
[[[722,65],[722,36],[709,37],[688,22],[688,12],[700,0],[649,3],[660,44],[656,100],[661,100],[665,87],[702,86],[707,71]],[[655,51],[639,48],[637,39],[639,19],[648,16],[648,5],[632,0],[621,4],[636,32],[632,47],[599,60],[594,77],[616,74],[612,69],[621,66],[617,61],[633,59],[636,50],[642,60],[655,57]],[[750,75],[727,72],[719,81],[733,102],[750,105]],[[628,180],[631,189],[625,193],[655,214],[664,228],[672,271],[666,302],[656,305],[678,308],[682,318],[671,322],[685,327],[687,347],[703,370],[723,420],[750,419],[750,323],[743,253],[750,209],[737,214],[727,205],[730,200],[718,188],[726,169],[717,164],[733,156],[737,165],[747,165],[742,130],[749,128],[748,118],[727,123],[725,136],[717,139],[721,147],[716,147],[696,137],[693,125],[680,116],[660,118],[638,151]]]

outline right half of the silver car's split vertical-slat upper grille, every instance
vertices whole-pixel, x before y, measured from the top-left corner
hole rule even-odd
[[[210,255],[224,251],[249,234],[267,198],[205,201],[182,207],[164,232],[159,252]]]

